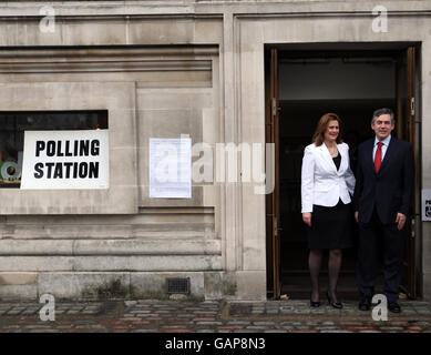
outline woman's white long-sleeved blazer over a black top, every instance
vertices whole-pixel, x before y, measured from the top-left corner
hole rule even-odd
[[[332,161],[325,143],[307,145],[304,151],[301,170],[301,212],[312,212],[312,205],[335,206],[339,199],[347,204],[353,195],[355,176],[350,170],[349,145],[337,144],[341,154],[341,164]]]

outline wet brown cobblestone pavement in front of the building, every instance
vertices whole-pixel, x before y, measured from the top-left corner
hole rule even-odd
[[[42,304],[0,302],[0,332],[12,333],[431,333],[431,302],[400,301],[402,313],[377,322],[356,301],[339,311],[310,308],[305,300],[265,302],[106,301],[55,303],[55,320],[41,321]]]

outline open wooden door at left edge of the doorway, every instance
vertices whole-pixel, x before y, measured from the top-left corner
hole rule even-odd
[[[280,209],[279,209],[279,97],[278,97],[278,53],[270,49],[266,87],[266,143],[275,150],[275,186],[266,196],[266,245],[268,288],[274,298],[280,296]]]

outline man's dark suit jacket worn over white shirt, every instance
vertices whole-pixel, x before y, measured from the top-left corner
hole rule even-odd
[[[414,185],[414,155],[409,142],[391,138],[379,173],[372,158],[374,138],[358,148],[355,211],[359,222],[368,223],[376,206],[383,224],[394,223],[397,213],[409,215]]]

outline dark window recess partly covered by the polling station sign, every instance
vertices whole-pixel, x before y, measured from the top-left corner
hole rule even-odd
[[[24,131],[106,130],[107,111],[0,112],[0,187],[20,187]]]

